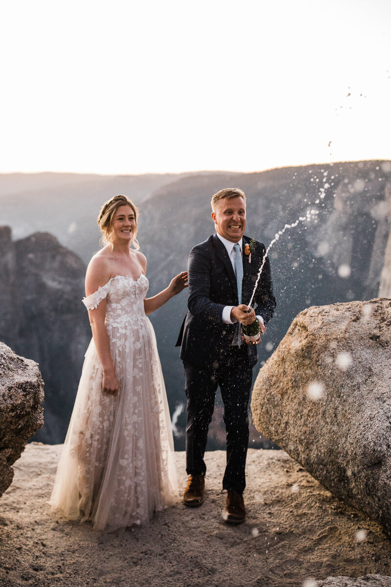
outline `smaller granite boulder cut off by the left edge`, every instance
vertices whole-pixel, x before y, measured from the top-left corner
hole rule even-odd
[[[11,485],[13,463],[43,426],[42,402],[38,365],[0,342],[0,495]]]

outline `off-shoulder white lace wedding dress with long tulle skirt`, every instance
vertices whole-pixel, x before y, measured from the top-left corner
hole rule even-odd
[[[50,505],[69,519],[111,531],[148,524],[178,501],[171,420],[151,322],[144,312],[148,279],[117,275],[83,299],[88,309],[107,297],[106,326],[120,382],[102,391],[93,340],[57,468]]]

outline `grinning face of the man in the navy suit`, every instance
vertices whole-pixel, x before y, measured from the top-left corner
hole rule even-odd
[[[238,242],[246,228],[246,202],[241,197],[222,198],[215,204],[212,219],[220,237]]]

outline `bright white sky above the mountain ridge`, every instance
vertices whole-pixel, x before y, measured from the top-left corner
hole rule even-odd
[[[390,31],[390,0],[3,2],[0,172],[390,159]]]

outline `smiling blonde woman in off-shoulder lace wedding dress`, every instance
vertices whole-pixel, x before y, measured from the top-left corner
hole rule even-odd
[[[187,287],[187,272],[145,298],[137,214],[117,195],[98,217],[106,246],[90,261],[83,299],[93,339],[50,498],[52,510],[104,531],[148,524],[178,498],[171,420],[146,315]]]

